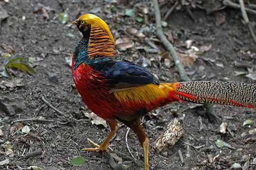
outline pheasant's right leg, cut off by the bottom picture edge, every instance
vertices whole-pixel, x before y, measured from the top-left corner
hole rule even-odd
[[[144,170],[148,170],[150,169],[150,164],[148,164],[148,147],[149,147],[149,143],[148,143],[148,138],[146,133],[144,132],[143,128],[140,125],[140,119],[134,119],[132,121],[123,121],[121,120],[122,123],[124,123],[127,127],[131,128],[132,130],[134,130],[134,132],[136,133],[136,135],[139,138],[140,144],[143,147],[144,150]]]

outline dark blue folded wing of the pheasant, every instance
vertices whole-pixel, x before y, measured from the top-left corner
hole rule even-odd
[[[159,84],[157,78],[145,68],[127,60],[93,63],[90,66],[102,72],[103,76],[109,79],[108,84],[111,87],[111,92],[146,84]]]

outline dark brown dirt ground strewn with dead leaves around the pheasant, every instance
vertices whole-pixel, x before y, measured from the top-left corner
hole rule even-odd
[[[49,7],[46,8],[49,19],[45,18],[42,12],[33,13],[38,3]],[[26,59],[34,57],[35,62],[32,66],[37,71],[35,75],[28,75],[23,71],[11,69],[12,74],[15,75],[13,80],[0,76],[0,103],[7,102],[11,106],[10,110],[14,110],[10,113],[12,115],[8,115],[3,108],[0,109],[0,128],[3,131],[0,136],[0,162],[9,158],[9,163],[0,168],[27,169],[33,165],[44,169],[112,169],[105,153],[80,152],[84,147],[91,147],[86,138],[100,143],[108,135],[110,128],[92,125],[91,121],[83,121],[88,119],[83,112],[90,113],[90,110],[77,92],[70,92],[73,78],[71,67],[66,63],[65,58],[72,55],[76,43],[81,38],[77,28],[71,26],[70,22],[81,14],[95,12],[109,23],[115,39],[127,37],[133,40],[132,48],[120,51],[122,57],[139,65],[146,64],[146,68],[154,72],[161,82],[176,82],[180,78],[173,62],[162,59],[159,64],[156,59],[164,56],[162,53],[165,49],[160,42],[152,40],[157,38],[152,3],[150,1],[110,3],[109,1],[11,0],[9,3],[0,1],[0,5],[9,14],[9,17],[1,23],[0,43],[10,45],[15,50],[15,55],[24,56]],[[117,11],[110,10],[112,5],[115,5]],[[123,16],[125,9],[134,9],[136,15],[143,14],[142,10],[145,7],[149,10],[146,24],[135,21],[134,17]],[[63,10],[69,13],[70,19],[68,23],[62,25],[59,23],[58,15]],[[164,7],[162,10],[166,12]],[[256,63],[256,48],[246,26],[242,23],[240,11],[228,8],[218,11],[225,16],[225,21],[219,27],[216,26],[219,15],[217,12],[206,14],[200,9],[193,9],[192,12],[195,21],[185,10],[174,11],[167,19],[168,27],[164,29],[169,39],[173,39],[180,53],[187,50],[184,42],[188,39],[194,40],[193,45],[198,48],[211,44],[208,52],[197,53],[198,58],[185,66],[189,77],[194,81],[255,83],[244,75],[236,76],[236,71],[253,72]],[[249,15],[249,18],[254,23],[255,30],[256,17]],[[130,27],[138,29],[150,38],[157,45],[158,54],[145,53],[142,48],[136,48],[151,47],[143,38],[131,36],[124,31]],[[3,47],[0,47],[0,52],[0,55],[6,53]],[[1,65],[4,63],[3,57],[0,57],[0,63]],[[237,63],[240,63],[240,66]],[[48,107],[41,100],[42,96],[67,117],[57,114]],[[0,106],[3,107],[1,104]],[[255,136],[254,139],[249,140],[248,131],[256,126],[256,110],[216,105],[215,111],[221,117],[218,122],[209,118],[203,107],[194,108],[194,106],[188,103],[173,103],[143,118],[143,127],[151,143],[151,169],[231,169],[234,163],[239,163],[244,167],[243,169],[254,169],[255,164],[252,164],[252,160],[255,161],[256,157]],[[166,130],[168,123],[174,117],[181,116],[184,116],[181,125],[185,130],[181,140],[167,152],[156,153],[153,142]],[[53,121],[15,123],[15,120],[38,117]],[[203,124],[201,131],[199,131],[200,118]],[[251,119],[252,124],[243,126],[246,119]],[[229,127],[229,132],[226,134],[220,133],[220,125],[223,122]],[[19,125],[29,126],[30,132],[22,133]],[[128,169],[142,169],[143,150],[136,135],[130,132],[127,139],[135,159],[132,158],[125,145],[126,131],[126,127],[119,124],[117,135],[111,142],[113,150],[111,153],[121,157],[123,163],[130,166]],[[242,135],[244,132],[246,135]],[[215,144],[217,139],[225,141],[233,149],[218,148]],[[14,151],[11,155],[6,155],[8,144],[12,146],[10,150]],[[30,152],[39,150],[42,154],[24,157]],[[181,150],[183,155],[183,164],[178,150]],[[87,163],[74,166],[71,159],[79,155],[85,157]],[[216,158],[213,161],[214,157]]]

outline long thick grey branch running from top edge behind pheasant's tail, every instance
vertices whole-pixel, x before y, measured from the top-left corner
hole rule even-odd
[[[168,41],[168,39],[165,37],[163,34],[162,26],[161,26],[161,14],[158,6],[158,1],[157,0],[152,0],[154,9],[155,9],[155,15],[156,15],[156,34],[164,44],[164,46],[167,48],[169,51],[170,55],[172,55],[173,60],[175,62],[175,66],[179,71],[179,75],[182,81],[185,82],[190,82],[191,80],[187,77],[186,71],[180,61],[179,56],[177,55],[174,46]],[[214,111],[214,108],[212,107],[211,104],[205,104],[206,112],[209,114],[214,115],[215,117],[218,117]]]

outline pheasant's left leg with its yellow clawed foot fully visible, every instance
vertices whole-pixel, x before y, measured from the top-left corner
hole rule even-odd
[[[116,123],[115,119],[107,120],[106,122],[108,122],[108,124],[110,125],[110,129],[111,129],[111,132],[108,135],[108,137],[106,137],[106,139],[100,145],[94,143],[92,140],[87,138],[87,140],[92,145],[94,145],[95,148],[84,148],[84,149],[82,149],[82,151],[106,151],[106,153],[109,152],[109,150],[107,148],[108,145],[110,144],[109,141],[116,134],[116,131],[117,131],[118,127],[117,127],[117,123]]]

